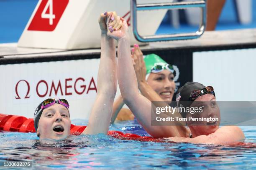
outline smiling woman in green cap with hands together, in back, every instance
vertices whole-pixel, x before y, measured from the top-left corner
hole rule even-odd
[[[136,73],[138,87],[141,94],[150,101],[172,102],[174,95],[174,69],[171,64],[167,64],[156,54],[146,55],[137,44],[132,49],[133,67]],[[124,105],[122,96],[115,100],[113,105],[113,115],[111,123],[116,120],[133,120],[134,115],[131,110],[122,108]]]

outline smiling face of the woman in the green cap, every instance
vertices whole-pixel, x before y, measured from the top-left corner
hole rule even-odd
[[[175,89],[174,75],[168,70],[159,73],[151,73],[148,76],[148,85],[164,100],[172,102]]]

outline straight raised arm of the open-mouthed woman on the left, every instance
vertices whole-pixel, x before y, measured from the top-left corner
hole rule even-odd
[[[110,23],[113,20],[116,20],[115,25],[107,29],[106,21]],[[83,132],[84,134],[108,133],[117,89],[115,40],[108,37],[107,32],[120,28],[122,21],[120,17],[115,16],[115,13],[102,13],[99,24],[101,29],[101,54],[97,78],[97,97],[92,107],[87,128]]]

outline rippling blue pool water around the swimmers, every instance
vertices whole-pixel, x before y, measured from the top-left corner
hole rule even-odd
[[[256,126],[241,128],[247,144],[238,146],[141,142],[102,134],[72,136],[62,141],[46,140],[41,144],[35,133],[3,132],[0,133],[0,161],[26,160],[32,161],[33,169],[60,170],[255,169]],[[133,121],[117,123],[110,130],[147,135]]]

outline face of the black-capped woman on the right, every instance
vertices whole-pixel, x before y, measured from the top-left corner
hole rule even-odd
[[[215,100],[214,95],[212,94],[206,94],[198,97],[196,102],[193,102],[190,107],[202,107],[202,112],[201,113],[194,113],[193,115],[187,114],[188,116],[192,117],[218,117],[219,121],[200,121],[200,125],[195,125],[198,122],[192,122],[189,121],[187,122],[187,125],[189,126],[190,129],[195,130],[197,133],[201,135],[209,135],[211,133],[214,133],[216,130],[219,128],[220,124],[220,109],[217,105],[217,102]],[[194,125],[193,125],[194,124]]]

